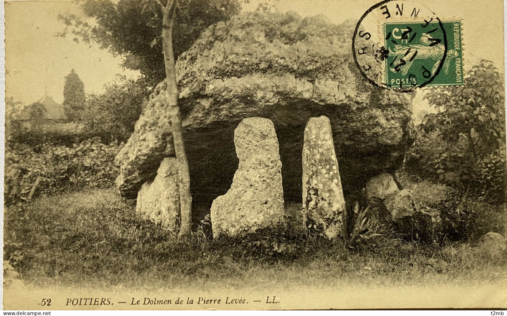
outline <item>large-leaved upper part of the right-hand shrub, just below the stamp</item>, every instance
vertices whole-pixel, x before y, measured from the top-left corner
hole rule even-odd
[[[441,109],[425,118],[425,131],[438,129],[444,141],[468,137],[474,154],[505,143],[503,80],[492,62],[482,60],[468,71],[463,86],[431,89],[426,98]]]

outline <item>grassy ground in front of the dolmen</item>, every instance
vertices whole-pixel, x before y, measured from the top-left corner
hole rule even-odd
[[[175,241],[113,189],[42,197],[5,211],[5,259],[34,286],[290,288],[487,284],[507,277],[507,251],[468,243],[426,245],[394,234],[344,247],[291,224],[242,240],[209,237],[202,224]]]

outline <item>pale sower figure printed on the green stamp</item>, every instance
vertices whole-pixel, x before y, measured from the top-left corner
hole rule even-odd
[[[419,41],[421,42],[421,44],[414,44],[409,46],[397,45],[394,48],[394,51],[389,49],[389,56],[395,56],[394,60],[403,59],[405,61],[405,64],[399,67],[403,75],[407,74],[410,66],[412,66],[414,60],[416,59],[431,58],[433,60],[440,61],[444,57],[445,47],[441,43],[435,44],[436,40],[432,38],[429,34],[422,33]],[[449,71],[449,63],[451,62],[451,58],[455,57],[458,57],[458,52],[456,52],[455,50],[449,50],[447,52],[447,57],[443,67],[444,72],[446,74]],[[434,75],[437,72],[438,68],[439,63],[436,62],[431,68],[431,75]],[[390,68],[390,70],[393,72],[397,72],[397,70],[394,68]]]

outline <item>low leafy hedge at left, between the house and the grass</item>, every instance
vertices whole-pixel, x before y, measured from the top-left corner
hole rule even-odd
[[[120,148],[98,138],[71,147],[46,143],[35,150],[15,144],[5,155],[5,203],[26,200],[38,177],[36,195],[112,186],[118,174],[113,161]]]

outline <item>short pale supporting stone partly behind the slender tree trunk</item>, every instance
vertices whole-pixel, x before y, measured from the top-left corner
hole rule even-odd
[[[179,191],[176,158],[162,160],[153,182],[146,182],[137,193],[135,211],[162,225],[168,232],[179,232]]]

